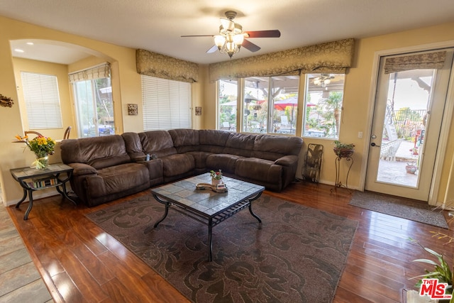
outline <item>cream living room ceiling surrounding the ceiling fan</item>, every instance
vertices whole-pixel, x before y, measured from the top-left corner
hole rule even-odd
[[[281,31],[280,38],[251,38],[262,49],[241,49],[233,58],[454,21],[453,0],[0,0],[0,16],[205,64],[229,60],[228,55],[206,53],[211,37],[180,36],[216,34],[228,10],[238,12],[235,21],[244,31]],[[35,53],[36,59],[45,45],[55,47],[41,44],[40,52],[30,48],[21,56]],[[83,56],[80,51],[60,63]],[[52,48],[41,55],[46,54]]]

